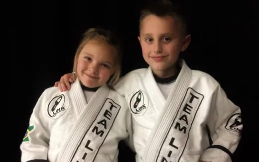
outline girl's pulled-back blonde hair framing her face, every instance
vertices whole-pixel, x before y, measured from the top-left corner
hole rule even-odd
[[[107,84],[110,87],[113,87],[120,78],[121,75],[121,61],[122,61],[122,52],[121,52],[121,46],[120,46],[120,41],[119,39],[109,30],[101,29],[101,28],[90,28],[88,29],[79,43],[79,46],[76,50],[76,54],[74,57],[74,65],[73,65],[73,72],[76,72],[76,67],[77,67],[77,62],[78,62],[78,57],[80,52],[82,51],[84,45],[91,39],[101,39],[115,47],[116,49],[116,55],[115,55],[115,72],[114,74],[110,77],[109,81]]]

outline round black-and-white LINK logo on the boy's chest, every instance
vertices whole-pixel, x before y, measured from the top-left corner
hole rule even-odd
[[[131,96],[132,95],[132,96]],[[143,115],[147,110],[148,100],[146,94],[142,90],[129,94],[129,107],[132,113]]]

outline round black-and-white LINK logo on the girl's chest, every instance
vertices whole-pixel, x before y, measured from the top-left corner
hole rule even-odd
[[[65,113],[69,105],[67,97],[64,94],[55,96],[48,104],[48,115],[57,119]]]

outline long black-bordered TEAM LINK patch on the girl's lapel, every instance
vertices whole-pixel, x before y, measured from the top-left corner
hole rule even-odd
[[[121,106],[107,98],[90,129],[86,132],[71,162],[93,162],[104,143]]]

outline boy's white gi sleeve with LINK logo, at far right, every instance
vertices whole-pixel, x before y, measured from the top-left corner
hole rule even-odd
[[[227,98],[220,86],[212,95],[210,108],[207,130],[211,135],[211,146],[204,151],[200,160],[231,162],[243,128],[241,110]]]

